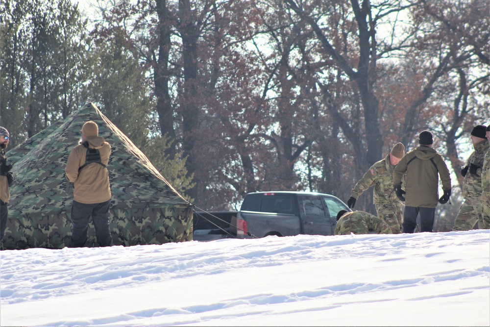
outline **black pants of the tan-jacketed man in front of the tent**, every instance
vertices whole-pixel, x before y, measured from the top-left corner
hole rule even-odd
[[[92,216],[95,226],[97,243],[101,247],[113,245],[111,230],[109,228],[110,200],[101,203],[80,203],[73,200],[72,206],[72,236],[70,248],[85,246],[88,239],[89,219]]]

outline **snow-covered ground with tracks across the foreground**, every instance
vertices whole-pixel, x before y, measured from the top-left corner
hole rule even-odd
[[[2,251],[1,326],[489,326],[490,232]]]

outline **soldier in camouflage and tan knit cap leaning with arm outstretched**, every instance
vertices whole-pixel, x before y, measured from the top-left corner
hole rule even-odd
[[[357,182],[347,201],[349,208],[353,208],[357,198],[374,185],[373,202],[378,217],[390,226],[394,234],[402,231],[403,203],[393,192],[393,170],[404,155],[405,146],[401,143],[395,144],[392,151],[384,159],[372,165]]]

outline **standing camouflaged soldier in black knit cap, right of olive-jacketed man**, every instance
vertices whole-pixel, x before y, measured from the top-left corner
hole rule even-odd
[[[471,141],[475,151],[469,156],[466,166],[461,170],[463,179],[463,196],[465,201],[456,216],[453,231],[470,230],[478,222],[479,228],[488,229],[481,212],[482,168],[483,160],[489,149],[489,141],[485,137],[487,126],[478,125],[471,131]]]

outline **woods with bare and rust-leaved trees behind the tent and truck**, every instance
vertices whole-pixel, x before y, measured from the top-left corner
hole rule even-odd
[[[459,172],[490,123],[486,0],[98,4],[1,2],[9,148],[92,101],[188,199],[226,210],[255,190],[346,201],[423,129]]]

